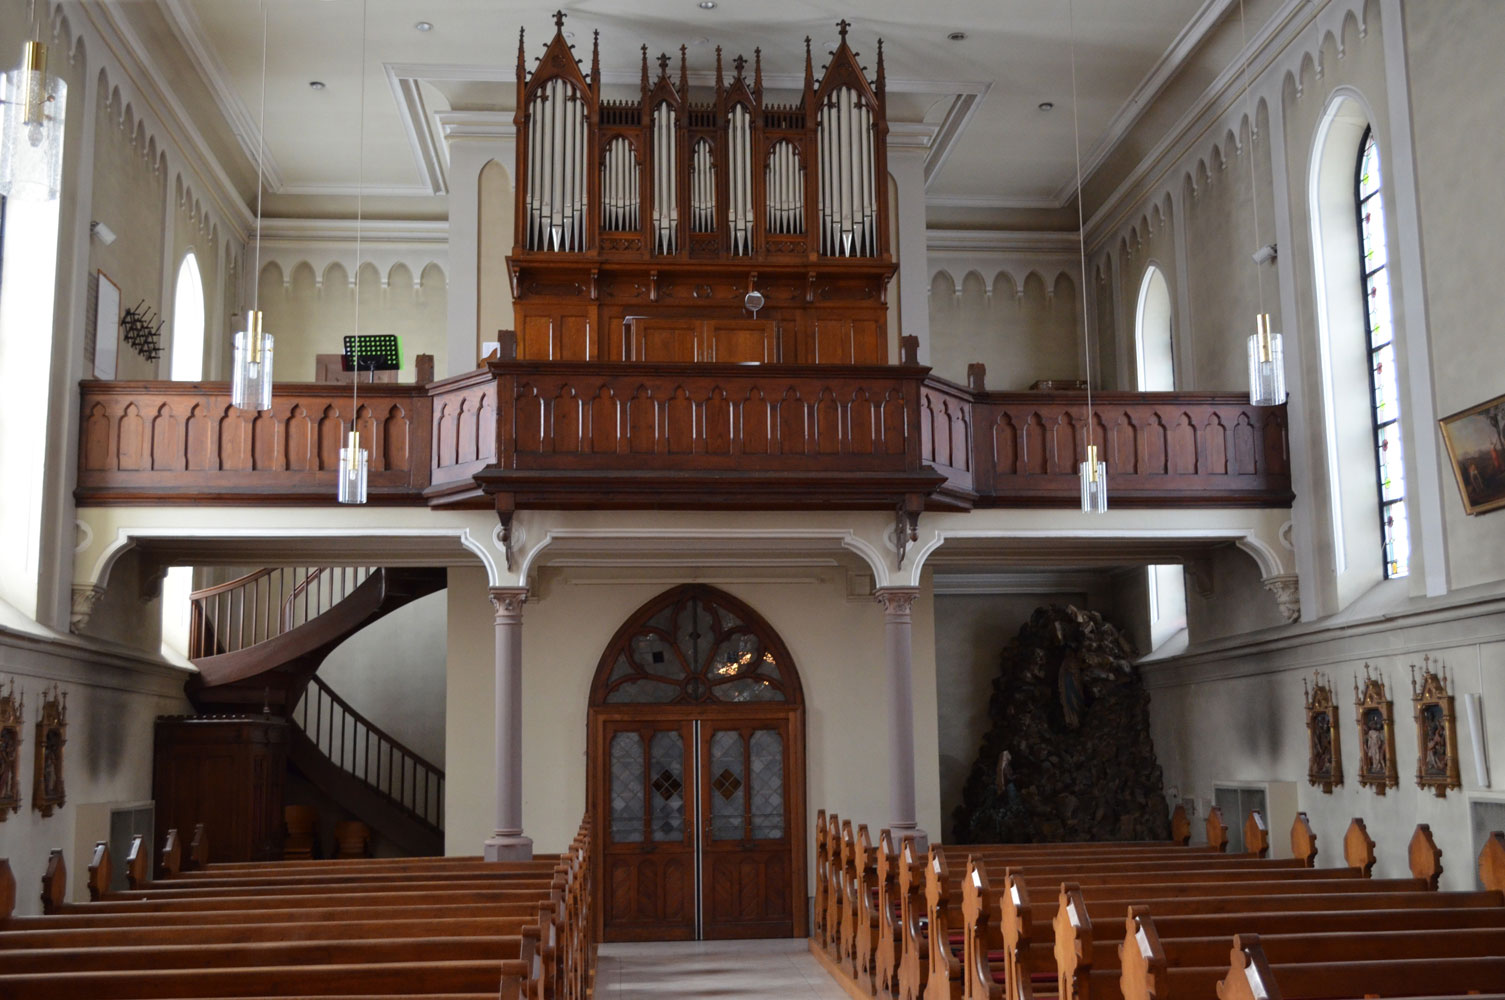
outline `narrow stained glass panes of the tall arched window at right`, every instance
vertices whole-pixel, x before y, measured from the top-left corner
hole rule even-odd
[[[1385,244],[1385,199],[1380,193],[1380,148],[1374,130],[1359,142],[1359,267],[1364,273],[1364,315],[1370,346],[1370,390],[1374,449],[1380,480],[1380,538],[1385,575],[1410,571],[1410,526],[1406,517],[1406,467],[1401,446],[1400,373],[1395,369],[1395,327],[1391,319],[1389,253]]]

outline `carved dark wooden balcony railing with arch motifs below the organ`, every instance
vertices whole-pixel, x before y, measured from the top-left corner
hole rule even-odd
[[[1284,407],[1100,393],[1112,506],[1290,506]],[[430,506],[1057,508],[1078,503],[1079,392],[966,389],[915,364],[494,361],[361,393],[370,495]],[[272,408],[214,383],[84,383],[77,498],[334,503],[339,386]]]

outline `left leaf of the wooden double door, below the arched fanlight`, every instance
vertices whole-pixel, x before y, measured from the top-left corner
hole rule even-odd
[[[695,938],[694,723],[604,730],[602,908],[614,941]]]

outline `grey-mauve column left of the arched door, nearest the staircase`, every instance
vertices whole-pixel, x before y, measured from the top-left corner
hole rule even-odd
[[[497,831],[486,837],[488,861],[525,861],[533,840],[522,836],[522,587],[492,587],[497,608]]]

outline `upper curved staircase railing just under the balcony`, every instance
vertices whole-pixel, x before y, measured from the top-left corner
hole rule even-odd
[[[378,566],[275,566],[194,590],[188,657],[248,649],[324,614]]]

